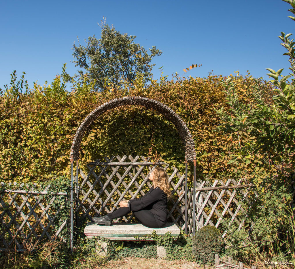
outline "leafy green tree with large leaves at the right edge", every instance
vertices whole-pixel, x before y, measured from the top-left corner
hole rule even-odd
[[[295,0],[283,1],[291,4],[292,9],[289,11],[295,16]],[[289,18],[295,21],[294,16]],[[283,69],[274,71],[267,68],[270,72],[267,75],[273,78],[270,81],[273,85],[271,102],[266,101],[261,79],[255,79],[255,86],[250,89],[254,99],[252,105],[240,101],[232,77],[223,83],[229,109],[222,108],[218,111],[224,124],[217,130],[238,134],[244,132],[254,138],[252,143],[242,145],[241,155],[236,156],[235,160],[245,159],[253,152],[260,152],[270,157],[273,162],[281,165],[287,163],[291,165],[291,169],[294,168],[295,42],[294,39],[290,40],[289,36],[291,34],[281,32],[279,38],[283,41],[281,45],[287,49],[283,55],[289,56],[290,75],[283,77],[281,76]],[[290,77],[292,77],[291,82],[288,82]]]

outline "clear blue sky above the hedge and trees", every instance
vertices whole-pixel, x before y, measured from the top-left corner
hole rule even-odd
[[[10,74],[26,72],[29,86],[52,82],[61,66],[73,75],[77,67],[72,45],[88,36],[100,37],[97,22],[106,17],[117,31],[135,35],[145,49],[163,51],[154,58],[154,78],[202,64],[186,75],[227,76],[239,70],[268,79],[265,68],[288,74],[288,57],[277,37],[295,33],[287,16],[291,6],[280,0],[212,1],[7,1],[0,0],[0,87]],[[3,87],[2,87],[3,88]]]

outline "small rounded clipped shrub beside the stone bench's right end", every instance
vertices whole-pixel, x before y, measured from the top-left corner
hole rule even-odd
[[[193,237],[193,254],[202,263],[213,262],[215,254],[222,255],[225,243],[215,226],[204,226]]]

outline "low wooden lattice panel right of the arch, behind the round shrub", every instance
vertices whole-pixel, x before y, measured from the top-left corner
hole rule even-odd
[[[196,189],[216,187],[217,190],[197,190],[196,191],[196,230],[203,226],[212,225],[218,228],[224,218],[230,219],[229,226],[224,230],[223,237],[226,230],[233,222],[238,225],[238,230],[241,229],[244,220],[240,218],[240,213],[244,212],[241,202],[249,201],[247,195],[252,187],[251,185],[242,185],[242,179],[236,182],[234,179],[227,180],[224,183],[222,180],[215,180],[212,182],[203,181],[196,183]],[[220,189],[218,189],[220,187]],[[222,187],[227,187],[223,188]],[[188,231],[192,233],[193,227],[193,190],[189,192],[188,202]]]

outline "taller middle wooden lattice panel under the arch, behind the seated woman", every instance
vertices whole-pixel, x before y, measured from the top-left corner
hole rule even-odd
[[[116,161],[116,162],[114,162]],[[168,171],[169,165],[164,162],[154,165],[143,156],[117,156],[106,162],[94,162],[87,165],[88,173],[79,169],[78,215],[79,219],[104,215],[119,208],[121,200],[139,198],[152,186],[148,180],[149,173],[155,166]],[[168,200],[168,221],[179,227],[184,224],[184,186],[185,175],[175,167],[168,171],[169,182],[173,187]],[[132,221],[133,215],[123,217],[123,221]],[[113,220],[118,222],[120,219]]]

